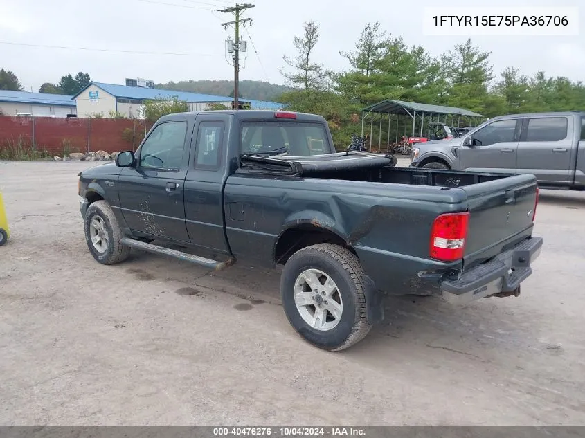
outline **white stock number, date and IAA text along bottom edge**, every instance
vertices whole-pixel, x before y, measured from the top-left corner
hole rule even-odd
[[[364,436],[361,428],[308,428],[308,427],[240,427],[240,428],[213,428],[213,435],[221,436],[275,436],[275,437],[312,437],[312,436]]]

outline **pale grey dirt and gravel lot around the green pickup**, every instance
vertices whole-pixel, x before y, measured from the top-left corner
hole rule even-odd
[[[76,174],[0,163],[1,425],[585,425],[585,194],[541,191],[519,298],[393,298],[329,353],[289,326],[278,271],[133,251],[95,262]]]

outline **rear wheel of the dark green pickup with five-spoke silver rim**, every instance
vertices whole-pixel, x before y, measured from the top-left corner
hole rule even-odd
[[[318,244],[298,250],[280,279],[282,306],[294,329],[316,347],[346,349],[370,331],[363,269],[349,250]]]

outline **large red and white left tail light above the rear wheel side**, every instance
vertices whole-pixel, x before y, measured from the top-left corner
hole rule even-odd
[[[431,228],[431,258],[442,262],[462,259],[468,225],[469,212],[438,216]]]

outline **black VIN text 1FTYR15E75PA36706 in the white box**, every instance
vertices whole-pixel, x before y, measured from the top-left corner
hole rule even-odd
[[[566,15],[434,15],[435,26],[568,26]]]

